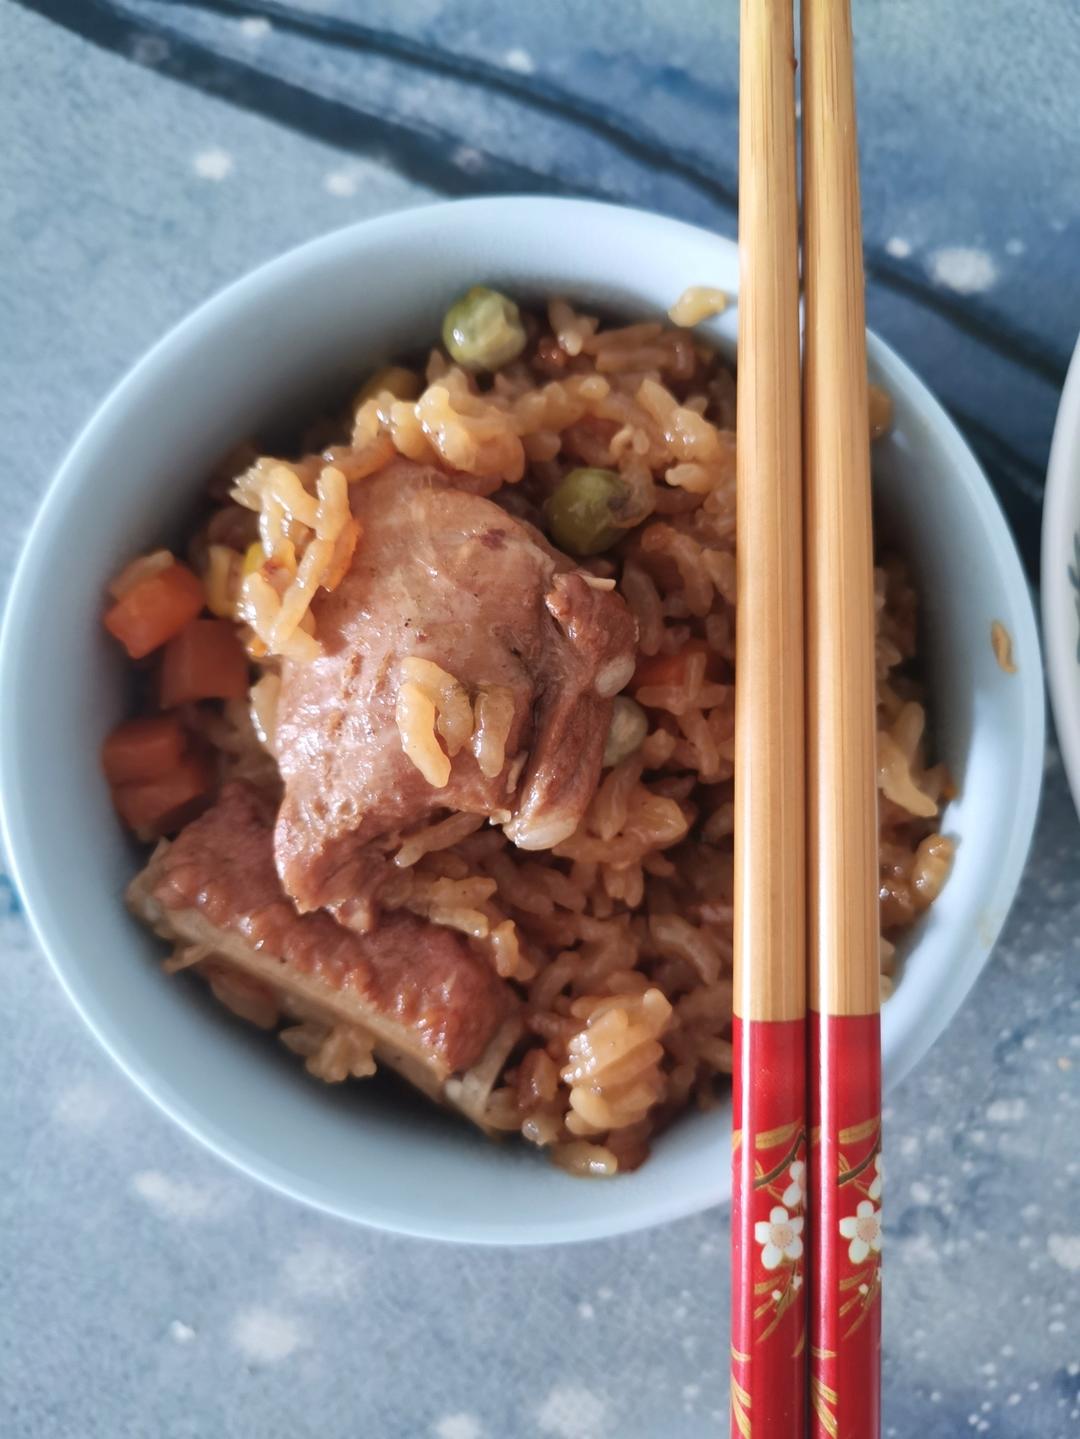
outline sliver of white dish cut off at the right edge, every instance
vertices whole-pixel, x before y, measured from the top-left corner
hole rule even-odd
[[[1057,738],[1080,813],[1080,340],[1061,391],[1043,501],[1043,635]]]

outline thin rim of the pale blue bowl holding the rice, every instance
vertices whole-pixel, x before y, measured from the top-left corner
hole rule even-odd
[[[670,243],[672,240],[677,240],[679,236],[693,237],[697,245],[703,239],[708,239],[709,243],[718,248],[718,252],[726,252],[729,259],[733,256],[735,262],[738,262],[738,246],[733,240],[712,235],[700,226],[627,206],[548,196],[499,196],[418,206],[342,226],[266,260],[210,295],[151,345],[99,403],[70,445],[58,472],[46,486],[39,509],[23,541],[12,578],[4,604],[3,626],[0,627],[0,692],[13,692],[14,685],[22,678],[19,666],[20,645],[17,639],[20,617],[26,609],[23,596],[30,590],[33,577],[40,566],[37,551],[50,547],[52,532],[65,509],[69,494],[79,491],[85,484],[83,453],[93,446],[102,432],[108,430],[109,426],[124,416],[129,396],[138,393],[147,376],[155,367],[163,363],[168,364],[174,357],[183,355],[207,321],[214,319],[220,324],[227,318],[230,309],[243,309],[260,296],[272,296],[275,289],[295,273],[316,272],[324,263],[332,262],[339,256],[339,253],[349,253],[358,240],[387,240],[401,235],[403,229],[411,230],[416,227],[430,230],[433,222],[449,219],[452,213],[466,223],[472,222],[477,227],[492,214],[498,214],[498,220],[502,224],[513,219],[518,223],[525,223],[526,217],[529,220],[536,217],[536,207],[548,214],[559,212],[561,216],[565,216],[561,223],[568,230],[587,226],[591,220],[603,220],[604,224],[610,226],[614,217],[620,217],[621,223],[626,223],[628,219],[639,229],[639,233],[647,233],[651,229],[657,243],[663,243],[664,240]],[[972,495],[972,502],[982,508],[988,522],[991,522],[995,567],[1002,574],[1002,583],[1008,586],[1011,593],[1017,594],[1017,614],[1021,620],[1022,633],[1017,633],[1014,637],[1027,653],[1037,656],[1038,637],[1027,580],[992,488],[952,419],[919,377],[873,332],[869,332],[867,342],[873,361],[884,370],[892,370],[905,383],[928,425],[956,456],[958,471],[962,471],[962,473],[958,473],[958,478],[962,478],[965,488]],[[1038,669],[1038,679],[1035,682],[1031,678],[1033,668]],[[1002,892],[1008,894],[1010,904],[1020,884],[1031,843],[1043,776],[1044,705],[1041,666],[1025,666],[1021,684],[1024,685],[1024,745],[1020,760],[1021,803],[1014,814],[1008,840],[1002,846],[999,865],[999,878],[1004,881],[1001,888]],[[729,1181],[726,1176],[718,1176],[708,1186],[693,1187],[686,1193],[672,1191],[662,1202],[651,1200],[639,1209],[613,1207],[610,1212],[598,1216],[578,1215],[571,1219],[549,1220],[545,1226],[536,1223],[525,1226],[519,1223],[516,1227],[503,1227],[493,1226],[489,1219],[473,1219],[472,1216],[441,1216],[439,1222],[400,1219],[395,1215],[385,1213],[365,1203],[362,1196],[358,1197],[358,1202],[354,1196],[352,1202],[347,1204],[344,1200],[335,1200],[332,1196],[321,1191],[315,1181],[308,1183],[302,1179],[279,1173],[265,1156],[250,1153],[233,1135],[221,1132],[214,1118],[204,1109],[191,1108],[183,1094],[171,1092],[167,1084],[155,1075],[152,1066],[144,1068],[134,1056],[125,1053],[122,1035],[118,1032],[118,1026],[111,1025],[108,1019],[108,1006],[95,1003],[93,986],[89,981],[83,983],[82,971],[72,966],[69,973],[69,966],[60,958],[66,944],[65,934],[69,930],[69,922],[62,920],[56,912],[47,886],[37,886],[30,875],[29,850],[32,840],[22,833],[24,816],[19,812],[19,806],[13,800],[13,796],[19,793],[19,771],[12,740],[13,724],[9,708],[4,707],[3,714],[0,714],[0,839],[6,845],[10,872],[23,899],[37,945],[47,957],[53,973],[60,980],[65,993],[82,1020],[125,1075],[170,1120],[226,1163],[279,1193],[285,1193],[295,1200],[338,1217],[414,1238],[482,1245],[538,1245],[610,1238],[656,1223],[687,1217],[716,1203],[726,1202]],[[943,996],[948,1002],[939,1003],[929,1013],[909,1019],[903,1026],[890,1026],[893,1030],[890,1035],[893,1043],[890,1046],[889,1086],[897,1084],[923,1058],[955,1016],[987,963],[987,957],[1004,924],[1005,912],[1001,912],[997,921],[988,924],[985,950],[981,951],[976,960],[964,966],[962,971],[953,976],[952,984],[948,986],[948,996]]]

